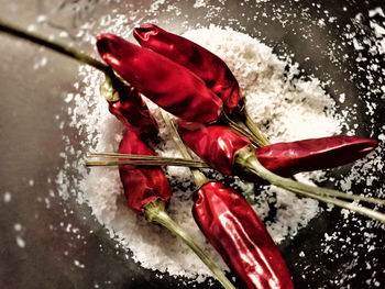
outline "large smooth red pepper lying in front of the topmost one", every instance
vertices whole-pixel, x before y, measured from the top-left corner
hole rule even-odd
[[[97,38],[101,58],[138,91],[188,121],[216,122],[222,100],[186,67],[113,34]]]

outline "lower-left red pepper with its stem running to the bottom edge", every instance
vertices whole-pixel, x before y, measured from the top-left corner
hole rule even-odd
[[[131,131],[127,131],[119,147],[120,154],[154,155],[154,153]],[[119,166],[124,194],[129,207],[138,214],[144,214],[148,222],[158,223],[180,237],[209,267],[227,289],[235,289],[222,270],[200,249],[194,240],[184,232],[166,213],[165,205],[172,191],[160,167]]]

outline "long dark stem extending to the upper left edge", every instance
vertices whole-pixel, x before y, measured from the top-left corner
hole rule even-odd
[[[69,56],[78,62],[81,62],[84,64],[88,64],[92,66],[96,69],[99,69],[100,71],[108,75],[111,79],[116,79],[116,75],[113,74],[112,69],[107,66],[106,64],[90,57],[89,55],[81,53],[73,47],[69,47],[63,43],[58,43],[55,41],[50,41],[47,38],[44,38],[42,36],[35,35],[34,33],[26,32],[20,27],[16,27],[12,24],[6,23],[2,20],[0,20],[0,31],[11,34],[16,37],[21,37],[23,40],[28,40],[32,43],[45,46],[50,49],[53,49],[55,52],[58,52],[61,54],[64,54],[66,56]]]

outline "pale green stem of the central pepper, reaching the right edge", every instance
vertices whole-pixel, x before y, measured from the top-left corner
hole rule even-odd
[[[378,220],[383,223],[385,223],[385,214],[377,212],[375,210],[369,209],[369,208],[364,208],[364,207],[360,207],[355,203],[350,203],[346,201],[342,201],[336,198],[330,198],[328,196],[332,196],[332,197],[348,197],[351,194],[345,194],[343,192],[339,192],[336,190],[331,190],[331,189],[324,189],[324,188],[319,188],[319,187],[312,187],[312,186],[308,186],[295,180],[292,180],[289,178],[283,178],[279,177],[273,173],[271,173],[270,170],[267,170],[266,168],[264,168],[261,163],[257,160],[256,156],[255,156],[255,151],[251,149],[250,147],[244,147],[242,149],[240,149],[237,155],[235,155],[235,164],[242,166],[243,169],[245,169],[249,173],[253,173],[255,175],[257,175],[260,178],[263,178],[265,180],[267,180],[268,182],[271,182],[272,185],[275,185],[277,187],[287,189],[292,192],[295,192],[297,194],[300,194],[302,197],[309,197],[322,202],[327,202],[327,203],[332,203],[334,205],[338,205],[340,208],[343,209],[348,209],[351,210],[353,212],[356,212],[359,214]],[[366,200],[365,197],[360,198],[361,196],[354,196],[354,199],[361,199],[361,200]],[[373,198],[369,198],[369,199],[373,199]],[[377,204],[383,204],[384,200],[377,200],[376,201]]]

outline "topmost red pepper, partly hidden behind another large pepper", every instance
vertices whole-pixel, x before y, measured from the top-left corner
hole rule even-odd
[[[244,108],[238,81],[227,64],[202,46],[154,24],[134,29],[134,37],[147,47],[187,67],[199,76],[222,101],[228,114]]]

